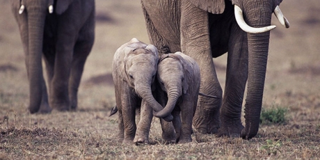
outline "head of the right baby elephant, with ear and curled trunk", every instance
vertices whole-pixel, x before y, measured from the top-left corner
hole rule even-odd
[[[198,95],[200,86],[198,64],[181,52],[163,54],[159,58],[157,79],[161,90],[168,95],[168,102],[163,110],[154,112],[156,117],[163,118],[170,115],[182,95],[189,92],[196,92],[195,95]]]

